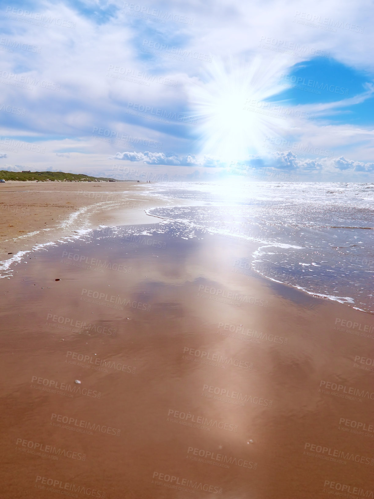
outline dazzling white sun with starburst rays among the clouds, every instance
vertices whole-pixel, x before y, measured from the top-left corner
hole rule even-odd
[[[284,61],[277,59],[255,57],[236,66],[230,61],[228,67],[213,60],[204,81],[188,88],[200,153],[232,164],[263,151],[266,137],[284,134],[287,119],[269,110],[271,98],[283,90],[277,77],[284,70]]]

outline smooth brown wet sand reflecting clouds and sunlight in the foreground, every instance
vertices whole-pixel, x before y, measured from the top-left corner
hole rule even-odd
[[[0,280],[1,497],[372,491],[373,316],[252,276],[240,241],[149,234]]]

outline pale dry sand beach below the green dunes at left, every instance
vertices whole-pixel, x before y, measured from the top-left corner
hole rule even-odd
[[[144,210],[154,202],[138,195],[144,188],[136,182],[0,184],[0,260],[74,231],[145,223]]]

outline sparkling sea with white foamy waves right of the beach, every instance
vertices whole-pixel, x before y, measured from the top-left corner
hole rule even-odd
[[[168,182],[148,187],[145,195],[183,200],[180,206],[148,211],[167,224],[168,232],[185,239],[205,232],[254,243],[242,268],[374,313],[374,183]]]

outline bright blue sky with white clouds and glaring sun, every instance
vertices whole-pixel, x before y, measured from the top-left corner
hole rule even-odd
[[[374,178],[371,1],[0,6],[0,170]]]

